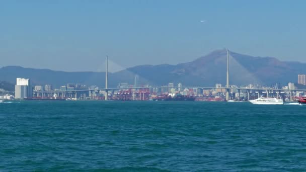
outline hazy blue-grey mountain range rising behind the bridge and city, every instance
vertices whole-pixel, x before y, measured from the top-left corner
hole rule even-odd
[[[230,51],[230,84],[271,85],[276,82],[296,82],[297,74],[306,73],[306,63],[280,61],[274,57],[253,57]],[[226,81],[226,50],[216,50],[191,62],[177,65],[138,65],[109,73],[109,88],[119,82],[134,84],[139,75],[139,84],[167,85],[181,82],[183,85],[214,86]],[[11,83],[16,77],[31,78],[33,84],[52,84],[59,88],[66,83],[105,86],[105,72],[64,72],[49,69],[33,69],[20,66],[0,68],[0,80]]]

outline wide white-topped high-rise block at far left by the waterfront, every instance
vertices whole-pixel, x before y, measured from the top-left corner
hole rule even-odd
[[[16,78],[15,98],[24,99],[32,97],[32,85],[30,79]]]

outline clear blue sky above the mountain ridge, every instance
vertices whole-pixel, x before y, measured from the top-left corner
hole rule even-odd
[[[188,62],[225,47],[306,62],[305,7],[276,0],[0,1],[0,67],[100,71],[106,54],[130,67]]]

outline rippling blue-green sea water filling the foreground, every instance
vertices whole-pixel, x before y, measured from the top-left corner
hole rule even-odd
[[[306,106],[0,103],[0,171],[306,171]]]

